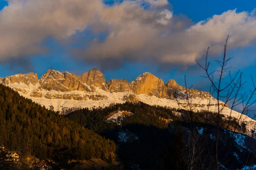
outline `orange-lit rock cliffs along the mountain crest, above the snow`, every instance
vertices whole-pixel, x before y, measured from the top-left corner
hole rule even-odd
[[[70,74],[67,71],[61,73],[55,70],[47,70],[39,79],[37,74],[17,74],[0,78],[0,83],[9,85],[14,83],[24,83],[25,85],[40,84],[39,89],[47,91],[87,91],[94,92],[95,88],[101,88],[111,93],[117,92],[133,92],[134,94],[154,95],[160,98],[174,98],[172,92],[168,92],[169,88],[179,86],[177,82],[170,79],[166,84],[163,80],[151,73],[145,72],[131,82],[126,79],[110,79],[105,81],[104,74],[98,69],[93,68],[89,72],[85,72],[81,76]],[[182,89],[182,86],[179,86]],[[190,91],[190,89],[188,89]],[[195,90],[195,89],[194,89]],[[197,91],[197,90],[196,90]],[[207,92],[197,91],[204,94]],[[177,96],[179,97],[179,96]]]

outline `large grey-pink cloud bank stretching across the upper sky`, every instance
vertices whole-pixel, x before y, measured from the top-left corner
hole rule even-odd
[[[236,9],[192,23],[173,15],[167,0],[9,0],[0,11],[0,62],[45,53],[44,40],[69,41],[74,35],[105,34],[81,44],[74,59],[113,68],[124,62],[194,65],[210,46],[211,54],[247,46],[256,39],[256,16]],[[86,37],[86,36],[85,36]],[[116,68],[116,67],[114,67]]]

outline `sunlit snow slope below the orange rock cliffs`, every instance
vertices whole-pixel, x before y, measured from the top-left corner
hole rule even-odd
[[[107,91],[102,90],[101,88],[96,88],[95,92],[86,92],[86,91],[68,91],[68,92],[61,92],[61,91],[46,91],[44,89],[40,90],[42,97],[32,97],[30,96],[31,93],[37,91],[37,85],[25,85],[23,83],[14,83],[7,85],[10,88],[13,88],[18,91],[18,93],[24,97],[32,99],[33,101],[44,105],[45,107],[49,108],[49,106],[53,106],[55,111],[61,111],[62,108],[93,108],[93,107],[105,107],[110,105],[111,103],[124,103],[126,100],[124,99],[125,96],[134,95],[131,92],[118,92],[118,93],[110,93]],[[75,99],[58,99],[60,96],[65,95],[73,95],[73,96],[87,96],[86,99],[83,100],[75,100]],[[48,99],[44,96],[51,96],[51,99]],[[89,96],[101,96],[98,100],[90,99]],[[166,98],[158,98],[157,96],[149,96],[147,94],[137,94],[135,95],[138,101],[144,102],[148,105],[159,105],[159,106],[166,106],[170,108],[181,108],[190,110],[188,101],[186,99],[166,99]],[[208,110],[217,112],[218,101],[216,99],[189,99],[191,108],[194,111],[201,111],[201,110]],[[222,102],[221,102],[222,103]],[[197,105],[196,107],[194,105]],[[226,116],[233,116],[239,118],[241,113],[237,111],[232,111],[230,108],[223,107],[222,114]],[[250,117],[246,115],[242,115],[242,120],[246,121],[253,121]]]

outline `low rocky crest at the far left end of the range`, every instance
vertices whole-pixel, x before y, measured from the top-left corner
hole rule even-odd
[[[36,85],[38,83],[38,76],[34,73],[29,74],[17,74],[14,76],[8,76],[3,79],[3,84],[14,84],[14,83],[24,83],[25,85]]]

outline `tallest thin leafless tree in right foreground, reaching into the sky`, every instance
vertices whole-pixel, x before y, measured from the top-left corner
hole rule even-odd
[[[256,102],[255,99],[253,99],[253,96],[256,93],[256,86],[253,82],[253,90],[250,91],[250,94],[243,93],[242,90],[244,88],[244,84],[246,82],[242,81],[242,73],[241,71],[237,71],[235,74],[231,74],[230,68],[232,66],[229,66],[229,62],[233,57],[227,57],[227,42],[228,38],[226,40],[226,43],[224,45],[224,55],[220,60],[215,60],[215,62],[218,63],[219,69],[218,70],[213,70],[210,71],[210,64],[211,62],[208,61],[208,53],[209,53],[209,47],[207,49],[207,55],[205,57],[205,63],[204,65],[200,64],[198,61],[198,65],[205,71],[207,79],[209,79],[211,83],[211,94],[215,94],[216,99],[217,99],[217,107],[218,111],[215,113],[216,116],[216,122],[215,122],[215,167],[218,170],[219,169],[219,159],[218,159],[218,153],[219,153],[219,147],[218,147],[218,142],[219,142],[219,130],[220,130],[220,118],[223,110],[225,107],[227,107],[227,104],[230,105],[230,116],[229,116],[229,121],[226,126],[227,130],[230,130],[230,122],[232,118],[232,112],[233,109],[238,106],[242,105],[243,109],[241,111],[241,115],[237,117],[237,122],[244,123],[244,118],[242,117],[243,115],[247,115],[247,113],[250,111],[250,107]],[[217,78],[215,78],[217,77]],[[224,103],[221,102],[221,99],[224,100]],[[236,131],[238,126],[235,126],[233,131]],[[233,133],[232,133],[233,137]]]

